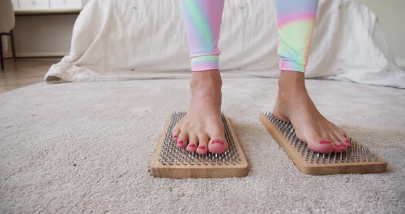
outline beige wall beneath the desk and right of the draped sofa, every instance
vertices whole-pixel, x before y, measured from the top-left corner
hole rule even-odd
[[[329,0],[333,1],[333,0]],[[378,15],[397,64],[405,66],[405,1],[360,0]],[[69,53],[78,15],[16,17],[17,56],[63,56]],[[10,56],[10,51],[6,53]]]

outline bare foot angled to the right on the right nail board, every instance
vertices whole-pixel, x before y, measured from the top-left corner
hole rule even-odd
[[[305,88],[304,73],[281,71],[273,115],[283,121],[290,121],[297,137],[308,143],[310,150],[321,153],[345,152],[351,145],[346,133],[316,109]]]

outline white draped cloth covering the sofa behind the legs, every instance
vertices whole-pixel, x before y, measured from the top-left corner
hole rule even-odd
[[[225,1],[220,37],[224,76],[277,77],[274,1]],[[71,51],[45,80],[87,82],[189,76],[180,0],[90,1]],[[405,88],[377,17],[358,1],[320,1],[307,78]]]

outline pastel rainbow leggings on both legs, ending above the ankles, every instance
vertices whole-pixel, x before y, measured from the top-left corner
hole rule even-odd
[[[275,0],[281,71],[305,72],[318,0]],[[218,69],[224,0],[182,0],[192,71]],[[269,26],[271,27],[271,26]]]

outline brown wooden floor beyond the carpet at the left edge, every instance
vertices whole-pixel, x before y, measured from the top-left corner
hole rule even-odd
[[[49,67],[61,58],[30,58],[4,60],[4,70],[0,70],[0,93],[43,82]]]

